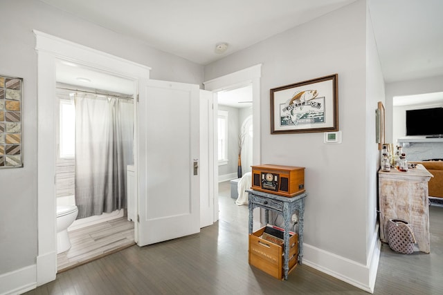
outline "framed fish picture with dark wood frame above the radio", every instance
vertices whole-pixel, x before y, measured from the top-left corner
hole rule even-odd
[[[271,134],[338,131],[338,74],[271,89]]]

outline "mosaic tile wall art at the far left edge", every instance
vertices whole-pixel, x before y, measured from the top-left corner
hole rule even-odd
[[[23,166],[22,91],[23,79],[0,75],[0,169]]]

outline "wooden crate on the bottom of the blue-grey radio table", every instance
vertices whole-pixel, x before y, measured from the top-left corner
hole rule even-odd
[[[249,235],[249,264],[270,274],[274,278],[284,278],[284,249],[260,238],[264,227]],[[289,273],[296,268],[298,256],[298,234],[289,237]]]

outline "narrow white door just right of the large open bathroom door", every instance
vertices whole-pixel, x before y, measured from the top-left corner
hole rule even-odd
[[[200,227],[214,219],[214,119],[213,93],[200,91]]]

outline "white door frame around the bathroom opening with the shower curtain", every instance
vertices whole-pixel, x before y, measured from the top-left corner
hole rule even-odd
[[[37,51],[37,286],[55,280],[57,274],[57,227],[55,200],[55,84],[57,60],[72,61],[112,73],[134,81],[134,95],[138,93],[138,81],[149,79],[150,67],[136,64],[102,51],[48,35],[38,30]],[[138,106],[134,104],[134,124]],[[137,130],[135,126],[135,130]],[[134,134],[134,144],[137,144]],[[134,153],[137,178],[137,155]],[[136,184],[137,185],[137,184]],[[134,222],[136,223],[136,222]]]

